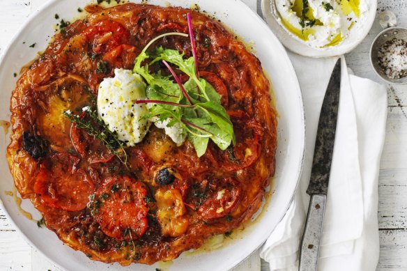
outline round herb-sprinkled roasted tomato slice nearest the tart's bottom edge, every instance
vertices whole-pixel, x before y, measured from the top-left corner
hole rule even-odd
[[[147,230],[146,187],[129,177],[110,177],[99,187],[89,208],[100,229],[117,240],[139,239]]]

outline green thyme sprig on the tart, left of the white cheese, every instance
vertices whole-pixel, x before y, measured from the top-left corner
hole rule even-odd
[[[71,111],[63,112],[63,115],[69,118],[80,129],[84,129],[91,137],[99,139],[110,152],[127,167],[128,156],[125,152],[125,143],[120,141],[116,132],[109,130],[105,122],[98,118],[98,111],[95,106],[84,107],[84,117],[72,114]]]

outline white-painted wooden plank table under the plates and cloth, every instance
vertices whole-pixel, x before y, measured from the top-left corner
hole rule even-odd
[[[244,0],[256,10],[259,0]],[[29,14],[43,0],[0,0],[0,54]],[[85,2],[85,1],[84,1]],[[392,10],[407,26],[406,0],[378,0],[378,11]],[[381,31],[377,18],[367,38],[346,55],[356,75],[381,82],[369,64],[369,47]],[[387,85],[389,112],[379,177],[378,221],[381,254],[377,270],[407,270],[407,85]],[[261,270],[268,270],[261,263]],[[249,268],[259,270],[259,268]],[[59,270],[22,239],[0,208],[0,270]]]

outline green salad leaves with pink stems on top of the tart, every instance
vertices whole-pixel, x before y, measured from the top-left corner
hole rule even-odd
[[[133,72],[144,77],[148,87],[146,96],[148,100],[138,100],[137,104],[148,104],[146,118],[155,121],[166,121],[172,127],[180,125],[187,133],[187,137],[194,145],[198,157],[201,157],[208,147],[211,139],[221,150],[226,150],[231,144],[236,144],[236,135],[233,124],[220,103],[220,95],[205,79],[199,77],[197,52],[194,44],[190,14],[187,15],[188,28],[192,43],[192,57],[185,59],[184,54],[174,49],[158,47],[151,54],[154,57],[150,63],[145,63],[151,56],[147,53],[153,42],[164,36],[179,35],[187,37],[184,33],[166,33],[148,42],[135,61]],[[159,73],[150,72],[154,63],[162,62],[167,66],[173,79]],[[142,65],[144,63],[144,65]],[[173,67],[187,75],[189,79],[185,84],[176,75]]]

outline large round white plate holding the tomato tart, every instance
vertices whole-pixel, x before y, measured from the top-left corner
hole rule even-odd
[[[83,8],[85,3],[86,1],[83,0],[50,1],[40,8],[38,13],[31,16],[20,33],[15,36],[0,63],[0,120],[10,119],[10,94],[17,81],[13,73],[18,72],[24,64],[31,61],[36,56],[37,49],[42,50],[47,47],[49,37],[54,35],[55,14],[59,14],[59,17],[64,20],[71,20],[78,15],[77,8]],[[186,8],[189,8],[192,3],[197,3],[201,10],[215,15],[231,31],[253,45],[256,56],[261,60],[272,82],[279,112],[277,169],[272,199],[264,207],[265,210],[259,217],[259,221],[247,226],[241,237],[236,238],[237,240],[216,251],[183,254],[168,268],[169,270],[229,270],[259,248],[268,238],[284,216],[293,198],[300,177],[305,146],[305,119],[300,86],[284,47],[263,20],[244,3],[236,0],[222,0],[222,4],[219,0],[149,0],[148,3],[161,6],[171,3],[174,6]],[[36,42],[35,49],[29,48],[29,45],[34,42]],[[8,137],[5,138],[1,132],[0,198],[10,218],[33,246],[67,270],[155,270],[160,268],[159,264],[152,266],[132,264],[129,267],[121,267],[118,264],[108,265],[91,261],[82,252],[63,245],[52,231],[38,229],[35,223],[21,215],[13,199],[4,194],[5,191],[13,191],[14,188],[13,178],[5,159],[8,141]],[[24,200],[22,207],[31,212],[36,219],[40,218],[30,201]]]

